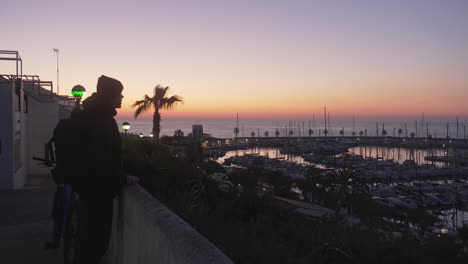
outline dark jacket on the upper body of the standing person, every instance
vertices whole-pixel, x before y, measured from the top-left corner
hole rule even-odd
[[[76,184],[80,195],[115,197],[123,184],[122,145],[114,116],[115,108],[105,96],[94,93],[83,102],[83,181]]]

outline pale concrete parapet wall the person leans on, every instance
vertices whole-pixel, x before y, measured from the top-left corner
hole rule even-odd
[[[115,264],[232,264],[219,249],[139,185],[117,199],[112,241]]]

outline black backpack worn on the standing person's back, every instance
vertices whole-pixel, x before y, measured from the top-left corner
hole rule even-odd
[[[76,184],[83,174],[82,153],[84,121],[82,110],[73,109],[71,117],[59,121],[50,140],[49,149],[55,152],[55,169],[52,172],[57,184]]]

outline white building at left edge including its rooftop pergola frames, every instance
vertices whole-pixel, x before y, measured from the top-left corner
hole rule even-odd
[[[21,63],[17,52],[7,52],[0,51],[0,55],[12,55],[17,65]],[[21,71],[0,75],[0,189],[22,188],[28,176],[50,173],[50,168],[39,166],[32,157],[46,157],[53,129],[60,119],[69,117],[73,106],[52,88],[52,82],[41,82]]]

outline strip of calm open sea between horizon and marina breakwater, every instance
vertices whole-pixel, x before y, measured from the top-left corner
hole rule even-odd
[[[150,118],[122,118],[116,119],[119,129],[122,131],[121,124],[128,121],[131,124],[129,133],[143,134],[148,136],[153,128],[152,120]],[[234,128],[238,126],[239,137],[251,137],[252,133],[255,137],[264,137],[265,132],[268,131],[270,137],[275,135],[275,131],[280,132],[280,136],[289,134],[288,131],[293,131],[294,136],[308,136],[308,131],[313,131],[313,136],[323,136],[323,130],[325,128],[325,122],[322,120],[310,119],[239,119],[237,125],[236,118],[164,118],[161,121],[161,133],[160,135],[172,136],[174,131],[180,129],[185,135],[192,132],[192,125],[200,124],[203,125],[203,132],[210,134],[213,137],[218,138],[233,138]],[[447,127],[448,124],[448,127]],[[405,126],[406,125],[406,126]],[[354,127],[354,129],[353,129]],[[405,129],[406,127],[406,129]],[[468,127],[468,118],[459,118],[458,122],[458,138],[463,138],[466,133],[466,127]],[[344,131],[344,136],[351,136],[352,132],[356,132],[356,135],[360,131],[363,133],[367,132],[368,136],[382,135],[382,131],[385,129],[387,136],[399,136],[398,129],[402,129],[400,136],[410,136],[411,133],[415,133],[417,137],[426,137],[427,134],[433,137],[445,138],[457,138],[457,123],[456,118],[434,118],[426,119],[424,123],[421,118],[398,118],[398,117],[385,117],[385,118],[365,118],[356,119],[353,122],[352,119],[337,119],[331,120],[328,125],[327,136],[340,136],[340,130]],[[378,132],[378,134],[377,134]],[[468,134],[468,133],[466,133]]]

